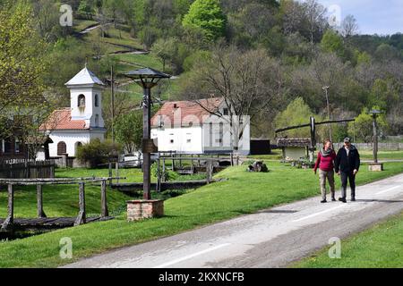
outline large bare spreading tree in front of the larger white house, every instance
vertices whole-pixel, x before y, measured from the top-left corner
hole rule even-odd
[[[210,114],[229,121],[234,149],[243,137],[244,116],[249,115],[252,121],[286,92],[279,62],[262,49],[243,52],[235,46],[216,48],[208,63],[195,67],[195,72],[192,88],[185,91],[187,97],[223,98],[228,116],[216,105],[208,105],[204,100],[197,102]]]

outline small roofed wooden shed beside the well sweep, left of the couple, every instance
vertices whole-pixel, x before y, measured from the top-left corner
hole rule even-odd
[[[283,151],[283,159],[286,161],[296,161],[309,158],[309,138],[282,138],[277,139],[277,146]]]

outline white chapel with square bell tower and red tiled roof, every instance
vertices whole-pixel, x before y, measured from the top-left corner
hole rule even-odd
[[[104,83],[87,67],[77,73],[65,86],[70,89],[70,107],[53,112],[40,127],[49,134],[49,156],[75,156],[77,147],[90,139],[105,139],[102,118],[102,89]]]

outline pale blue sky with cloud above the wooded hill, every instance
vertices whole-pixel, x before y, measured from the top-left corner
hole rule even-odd
[[[331,11],[340,13],[342,19],[348,14],[354,15],[360,34],[403,33],[403,0],[318,0],[318,2],[327,7],[330,13]]]

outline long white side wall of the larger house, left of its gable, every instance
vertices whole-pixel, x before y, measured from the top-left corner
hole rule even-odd
[[[160,152],[201,154],[201,127],[152,129],[151,139],[158,138]],[[171,142],[173,140],[173,142]]]

